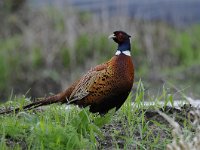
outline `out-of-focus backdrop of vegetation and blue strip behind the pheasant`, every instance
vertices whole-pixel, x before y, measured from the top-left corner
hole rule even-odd
[[[108,60],[115,30],[132,35],[137,82],[156,94],[171,83],[200,97],[198,1],[27,1],[0,3],[0,101],[67,88]]]

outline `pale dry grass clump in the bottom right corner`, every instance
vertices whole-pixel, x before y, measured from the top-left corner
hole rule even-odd
[[[193,131],[185,130],[178,122],[168,115],[158,111],[158,113],[165,118],[172,126],[172,143],[167,145],[167,150],[199,150],[200,147],[200,110],[190,111],[188,115],[193,117],[192,128]]]

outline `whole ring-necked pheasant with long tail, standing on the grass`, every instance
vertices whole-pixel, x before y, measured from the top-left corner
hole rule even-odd
[[[112,108],[118,110],[128,97],[134,81],[130,37],[124,31],[113,32],[109,38],[118,44],[118,48],[109,61],[91,68],[65,91],[30,103],[23,109],[66,103],[79,107],[89,106],[90,112],[99,114],[105,114]],[[18,112],[20,109],[4,111],[0,114],[14,111]]]

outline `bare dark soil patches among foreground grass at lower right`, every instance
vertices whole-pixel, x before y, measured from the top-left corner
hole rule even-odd
[[[161,108],[160,111],[164,112],[165,114],[169,115],[170,117],[174,118],[176,122],[179,123],[180,126],[184,125],[185,120],[189,120],[192,122],[194,120],[194,116],[190,113],[191,110],[195,110],[191,105],[184,105],[180,109],[172,108],[172,107],[165,107]],[[153,120],[158,122],[162,125],[168,126],[170,129],[169,132],[166,130],[162,130],[157,125],[149,122],[148,130],[152,130],[152,133],[156,136],[159,134],[160,141],[166,139],[172,139],[171,130],[172,126],[164,119],[161,115],[158,114],[155,110],[144,110],[145,111],[145,122]],[[112,124],[105,125],[102,128],[102,132],[104,133],[105,138],[97,139],[99,141],[99,148],[98,149],[115,149],[116,145],[119,149],[125,148],[125,140],[123,137],[127,136],[126,129],[124,128],[124,124],[126,122],[122,121],[114,121]],[[113,134],[113,132],[118,132],[117,134]],[[115,137],[113,137],[115,135]],[[142,141],[139,131],[134,131],[134,141]],[[150,137],[151,138],[151,137]],[[114,139],[114,140],[113,140]],[[150,139],[151,140],[151,139]],[[146,145],[148,146],[148,145]],[[130,144],[128,149],[137,149],[136,144]]]

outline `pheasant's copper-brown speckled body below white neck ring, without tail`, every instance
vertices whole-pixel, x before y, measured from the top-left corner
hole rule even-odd
[[[129,95],[134,79],[131,57],[121,54],[91,69],[72,91],[69,102],[101,114],[119,109]]]

